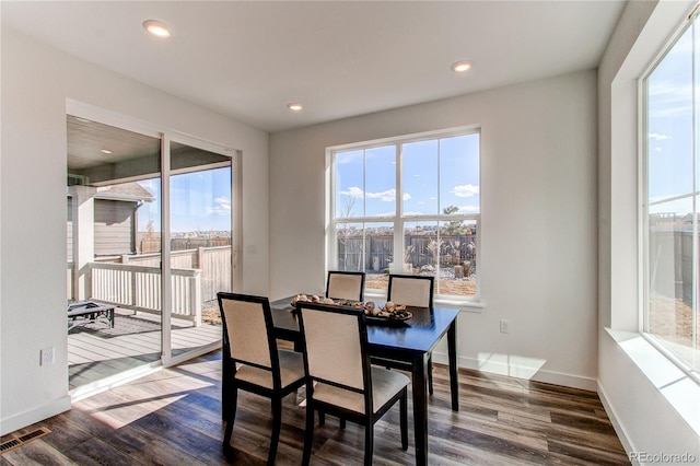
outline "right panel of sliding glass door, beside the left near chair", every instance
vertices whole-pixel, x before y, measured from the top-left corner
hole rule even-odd
[[[170,143],[170,347],[173,358],[221,340],[219,291],[232,290],[231,158]]]

